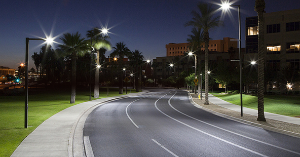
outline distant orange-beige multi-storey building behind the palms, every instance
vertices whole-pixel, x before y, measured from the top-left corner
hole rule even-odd
[[[235,38],[231,37],[224,37],[223,40],[214,40],[209,41],[208,50],[209,51],[216,51],[216,52],[228,52],[230,47],[237,48],[238,42],[237,41],[230,41],[236,40]],[[189,51],[190,43],[169,43],[166,45],[167,50],[167,57],[168,56],[183,56],[184,53]],[[202,44],[201,50],[205,50],[204,43]]]

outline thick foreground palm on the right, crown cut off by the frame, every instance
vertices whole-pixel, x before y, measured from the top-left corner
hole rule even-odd
[[[264,65],[265,65],[265,46],[264,46],[264,13],[266,4],[264,0],[255,0],[255,11],[258,16],[258,68],[257,68],[257,121],[264,121]]]

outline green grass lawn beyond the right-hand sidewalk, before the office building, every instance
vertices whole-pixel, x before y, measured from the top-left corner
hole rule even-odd
[[[219,94],[214,96],[227,102],[241,105],[240,94]],[[265,95],[264,106],[266,112],[287,116],[300,115],[299,96]],[[243,107],[257,109],[257,97],[251,95],[243,95]]]

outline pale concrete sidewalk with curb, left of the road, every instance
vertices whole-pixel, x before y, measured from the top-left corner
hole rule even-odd
[[[102,98],[66,108],[37,127],[11,156],[84,156],[82,135],[89,110],[110,100],[146,92],[148,91],[143,90],[139,93]]]

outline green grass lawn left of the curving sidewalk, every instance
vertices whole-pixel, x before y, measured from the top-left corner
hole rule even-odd
[[[127,94],[135,92],[128,89]],[[123,94],[125,94],[125,89]],[[28,128],[24,129],[24,95],[0,96],[0,156],[10,156],[36,127],[52,115],[70,106],[89,101],[89,89],[76,90],[76,103],[70,104],[70,90],[29,91]],[[100,90],[100,98],[119,95],[119,89]],[[93,92],[91,100],[93,98]]]

